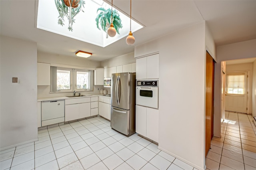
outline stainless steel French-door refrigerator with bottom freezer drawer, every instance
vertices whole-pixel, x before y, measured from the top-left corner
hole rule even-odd
[[[114,73],[111,78],[110,127],[130,136],[135,133],[136,73]]]

